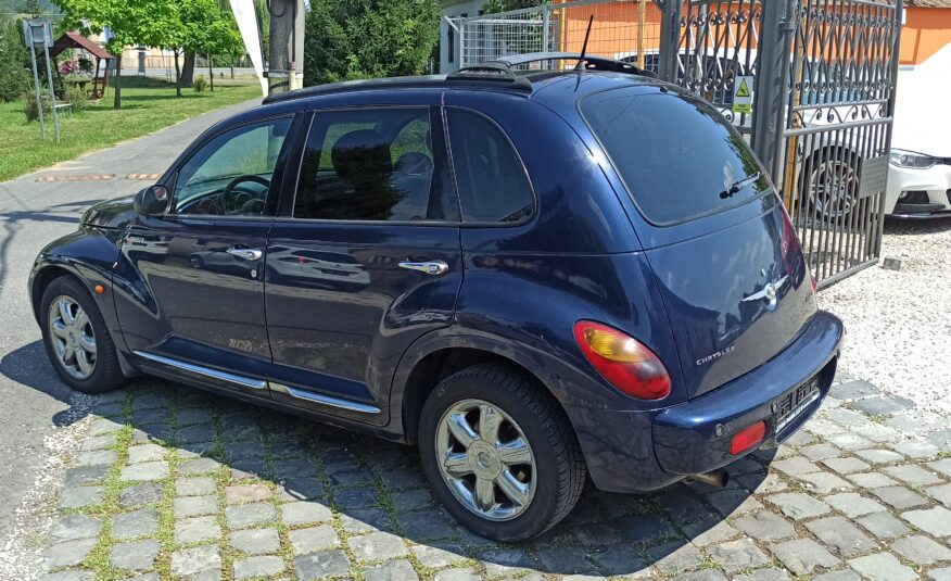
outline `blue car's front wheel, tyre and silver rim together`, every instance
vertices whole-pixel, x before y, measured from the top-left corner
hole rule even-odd
[[[125,381],[102,314],[78,280],[63,276],[50,282],[40,317],[47,355],[69,387],[102,393]]]

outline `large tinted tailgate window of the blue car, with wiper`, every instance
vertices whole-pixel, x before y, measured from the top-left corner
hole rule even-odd
[[[624,87],[581,113],[644,217],[672,225],[745,203],[770,182],[743,137],[701,99]]]

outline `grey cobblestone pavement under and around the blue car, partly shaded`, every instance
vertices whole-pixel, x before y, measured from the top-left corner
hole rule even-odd
[[[951,579],[947,418],[847,376],[832,394],[726,489],[586,493],[503,545],[440,510],[413,449],[139,380],[84,420],[43,579]]]

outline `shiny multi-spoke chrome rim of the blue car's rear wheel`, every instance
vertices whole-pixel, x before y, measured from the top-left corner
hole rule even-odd
[[[435,454],[449,491],[482,518],[516,518],[535,496],[532,446],[511,416],[489,402],[465,400],[447,409]]]

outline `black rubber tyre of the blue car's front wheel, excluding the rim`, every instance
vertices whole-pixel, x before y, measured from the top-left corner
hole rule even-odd
[[[49,325],[50,306],[59,296],[67,296],[75,301],[89,317],[89,324],[96,338],[96,362],[92,366],[92,374],[88,378],[79,379],[69,375],[53,348]],[[102,313],[100,313],[96,301],[92,300],[92,295],[76,278],[61,276],[53,279],[40,299],[39,314],[47,356],[56,374],[67,386],[76,391],[92,394],[110,391],[125,382],[126,378],[119,366],[115,343],[109,333]]]

